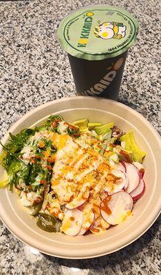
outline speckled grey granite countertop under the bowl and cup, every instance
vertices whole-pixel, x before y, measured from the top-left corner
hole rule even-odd
[[[75,95],[67,55],[56,41],[56,30],[66,14],[90,3],[120,5],[138,19],[140,32],[127,57],[119,101],[142,113],[160,130],[159,1],[1,1],[1,137],[30,109]],[[158,219],[138,241],[119,252],[72,261],[46,256],[24,245],[0,222],[0,274],[160,274],[159,229]]]

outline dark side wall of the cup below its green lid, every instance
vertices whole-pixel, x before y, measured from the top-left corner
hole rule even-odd
[[[102,61],[68,57],[78,95],[118,99],[127,52]]]

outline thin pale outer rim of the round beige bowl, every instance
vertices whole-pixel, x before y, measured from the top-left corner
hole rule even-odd
[[[2,138],[1,142],[6,142],[6,140],[8,140],[8,133],[9,132],[12,132],[14,131],[14,129],[17,128],[17,126],[19,126],[19,124],[21,124],[26,118],[29,118],[31,115],[33,115],[34,113],[36,113],[37,111],[41,111],[41,109],[44,109],[44,108],[47,108],[49,107],[50,105],[52,104],[55,104],[55,103],[58,103],[58,102],[64,102],[64,101],[69,101],[69,100],[81,100],[81,99],[85,99],[85,96],[73,96],[73,97],[67,97],[67,98],[61,98],[61,99],[56,99],[56,100],[52,100],[50,102],[46,102],[45,104],[41,104],[39,107],[36,107],[34,109],[32,109],[31,111],[25,113],[25,115],[23,115],[19,120],[17,120],[17,122],[15,122],[11,127],[10,129],[7,131],[6,135],[4,135],[4,137]],[[95,97],[88,97],[88,100],[96,100]],[[110,100],[110,99],[105,99],[105,98],[99,98],[99,100],[103,100],[105,102],[112,102],[112,103],[115,103],[118,105],[118,107],[122,107],[124,109],[127,109],[129,110],[131,113],[133,113],[133,115],[137,115],[138,118],[140,118],[140,120],[142,120],[144,122],[144,124],[147,124],[148,128],[151,129],[151,131],[153,131],[153,133],[155,133],[155,138],[158,142],[158,144],[160,144],[161,146],[161,140],[160,140],[160,135],[159,133],[154,129],[154,127],[151,125],[151,123],[149,121],[147,121],[143,115],[141,115],[140,113],[138,113],[137,111],[131,109],[131,107],[125,105],[125,104],[122,104],[121,102],[117,102],[115,100]],[[78,107],[76,107],[76,109],[79,109]],[[92,109],[92,108],[89,108],[89,109]],[[101,108],[100,108],[101,109]],[[54,113],[54,112],[53,112]],[[127,120],[128,121],[128,120]],[[160,204],[160,205],[159,205]],[[156,207],[155,207],[156,208]],[[156,211],[157,210],[157,211]],[[136,239],[140,238],[140,236],[142,236],[142,234],[144,234],[147,230],[149,230],[149,228],[151,227],[151,225],[155,222],[155,220],[158,218],[158,216],[160,215],[160,212],[161,212],[161,201],[160,203],[158,203],[158,208],[155,209],[155,215],[153,215],[153,219],[151,218],[148,225],[144,225],[144,229],[141,230],[141,232],[139,234],[137,234],[133,239],[131,239],[131,241],[127,241],[127,243],[124,243],[124,245],[120,245],[120,247],[118,246],[117,248],[111,250],[110,252],[102,252],[102,253],[98,253],[98,254],[92,254],[92,255],[89,255],[89,256],[63,256],[63,255],[58,255],[58,254],[53,254],[53,253],[50,253],[50,252],[47,252],[45,250],[41,250],[40,248],[36,248],[36,246],[32,246],[31,243],[28,243],[28,241],[25,241],[21,236],[17,236],[17,234],[14,232],[14,230],[12,230],[12,228],[10,228],[10,226],[8,226],[7,224],[7,221],[6,219],[4,219],[3,214],[0,213],[0,219],[1,221],[3,221],[3,223],[6,225],[6,228],[8,228],[8,230],[10,230],[10,232],[12,232],[12,234],[14,234],[14,236],[17,237],[17,239],[19,239],[20,241],[22,241],[23,243],[25,243],[26,245],[30,245],[36,249],[38,249],[40,252],[43,252],[45,254],[48,254],[50,256],[56,256],[58,258],[64,258],[64,259],[90,259],[90,258],[95,258],[95,257],[98,257],[98,256],[103,256],[103,255],[106,255],[106,254],[111,254],[113,252],[116,252],[122,248],[125,248],[127,245],[133,243],[133,241],[136,241]]]

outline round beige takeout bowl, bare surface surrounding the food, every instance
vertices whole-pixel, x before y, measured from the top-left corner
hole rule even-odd
[[[94,97],[74,97],[54,100],[24,115],[11,128],[18,133],[33,124],[39,124],[51,113],[63,115],[67,122],[80,118],[90,121],[114,121],[124,131],[133,129],[137,144],[147,152],[144,159],[146,190],[138,200],[131,214],[120,225],[109,228],[105,234],[87,236],[66,236],[49,233],[37,227],[35,218],[24,212],[17,203],[17,197],[8,188],[0,190],[1,220],[6,227],[24,243],[45,254],[67,259],[85,259],[102,256],[124,248],[138,239],[150,228],[160,214],[161,177],[160,137],[153,126],[133,109],[113,100]],[[9,132],[8,131],[8,132]],[[1,141],[5,144],[8,133]],[[1,169],[0,175],[3,174]]]

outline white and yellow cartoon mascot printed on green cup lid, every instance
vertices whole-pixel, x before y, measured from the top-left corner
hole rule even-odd
[[[101,39],[122,39],[126,35],[127,27],[123,23],[105,22],[95,27],[94,35]]]

